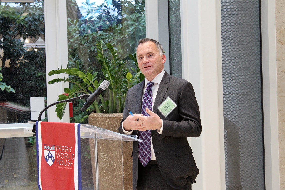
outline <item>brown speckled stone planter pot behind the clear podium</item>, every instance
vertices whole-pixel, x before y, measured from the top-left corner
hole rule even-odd
[[[118,132],[121,119],[123,114],[101,114],[91,113],[89,115],[89,124],[101,127],[107,130]],[[124,189],[132,189],[132,142],[123,142],[123,179]],[[116,148],[117,147],[117,148]],[[98,140],[97,151],[99,163],[99,174],[100,174],[100,190],[118,190],[121,189],[122,181],[118,177],[122,175],[122,172],[117,168],[121,167],[122,158],[118,157],[121,155],[121,141],[118,140]],[[96,189],[96,176],[95,176],[95,152],[94,152],[94,140],[90,139],[90,154],[91,164],[93,172],[94,189]],[[110,183],[112,182],[112,183]],[[118,186],[116,186],[118,184]]]

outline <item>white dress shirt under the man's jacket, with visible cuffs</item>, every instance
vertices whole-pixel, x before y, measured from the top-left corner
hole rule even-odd
[[[152,109],[153,109],[153,105],[154,105],[154,101],[155,101],[155,98],[156,98],[156,95],[157,95],[157,91],[158,91],[158,87],[159,87],[159,84],[161,82],[161,79],[164,75],[164,70],[162,70],[158,75],[156,75],[156,77],[154,77],[154,79],[152,79],[151,82],[154,82],[154,85],[151,87],[151,91],[152,91]],[[146,78],[144,78],[144,89],[143,91],[145,92],[146,90],[146,85],[147,83],[150,82],[148,81]],[[159,134],[162,134],[162,130],[163,130],[163,120],[162,121],[162,124],[161,124],[161,128],[160,130],[157,130],[157,132]],[[133,130],[131,131],[126,131],[124,128],[123,128],[123,123],[122,123],[122,129],[123,129],[123,132],[125,134],[132,134],[133,133]],[[156,160],[155,158],[155,154],[154,154],[154,150],[153,150],[153,145],[152,145],[152,138],[150,136],[150,151],[151,151],[151,160]]]

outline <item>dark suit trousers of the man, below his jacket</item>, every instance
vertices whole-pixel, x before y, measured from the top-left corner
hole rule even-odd
[[[170,187],[162,178],[156,160],[150,162],[144,167],[138,160],[138,183],[137,190],[175,190]],[[180,190],[191,190],[191,180]]]

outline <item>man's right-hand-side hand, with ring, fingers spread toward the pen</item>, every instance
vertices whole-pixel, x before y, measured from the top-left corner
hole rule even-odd
[[[143,127],[143,130],[148,129],[160,129],[162,125],[162,121],[158,115],[156,115],[154,112],[150,111],[149,109],[145,109],[146,113],[148,113],[149,116],[143,116],[137,115],[137,118],[139,118],[139,122],[141,123],[141,126]]]

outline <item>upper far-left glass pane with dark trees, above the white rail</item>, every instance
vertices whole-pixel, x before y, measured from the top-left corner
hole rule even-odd
[[[46,97],[44,3],[0,5],[0,124],[31,120],[30,97]]]

